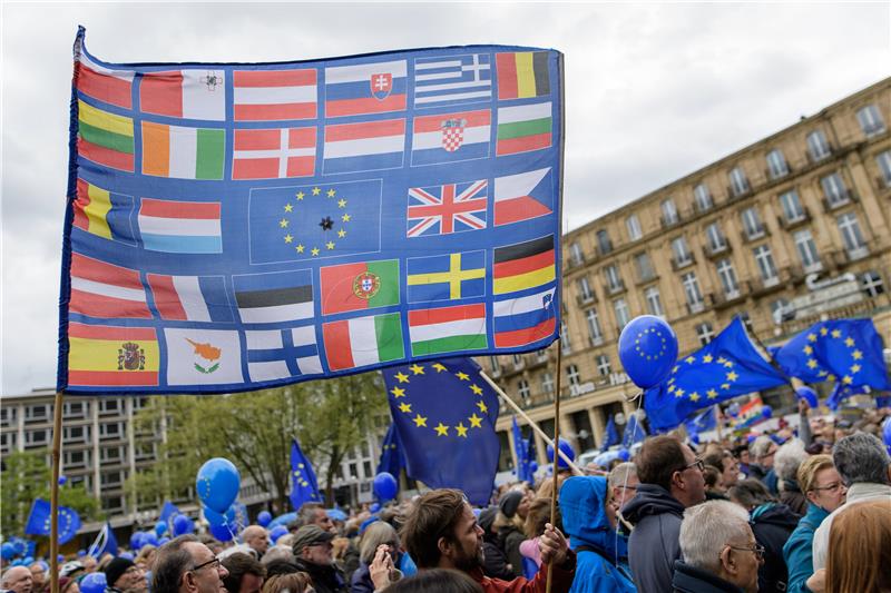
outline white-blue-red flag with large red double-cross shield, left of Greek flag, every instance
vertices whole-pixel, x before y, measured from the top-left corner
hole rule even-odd
[[[325,68],[325,117],[404,111],[405,60]]]

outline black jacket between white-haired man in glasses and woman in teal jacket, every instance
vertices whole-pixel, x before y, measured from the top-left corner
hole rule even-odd
[[[799,525],[801,515],[784,504],[766,503],[752,511],[752,532],[764,546],[764,564],[758,569],[758,592],[784,592],[789,571],[783,559],[783,546]]]

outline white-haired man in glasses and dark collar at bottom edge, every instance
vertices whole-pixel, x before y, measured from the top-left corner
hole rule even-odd
[[[728,501],[684,511],[681,552],[672,585],[679,593],[756,593],[764,548],[755,542],[748,513]]]

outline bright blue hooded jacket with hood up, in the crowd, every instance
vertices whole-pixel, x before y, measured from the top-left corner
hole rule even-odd
[[[601,476],[572,476],[560,487],[564,530],[578,554],[570,593],[637,591],[629,577],[627,542],[609,525],[604,510],[606,488],[607,481]],[[580,546],[597,551],[579,550]]]

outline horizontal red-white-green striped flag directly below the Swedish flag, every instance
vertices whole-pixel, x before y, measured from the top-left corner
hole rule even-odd
[[[486,348],[486,305],[410,310],[409,337],[413,356]]]

